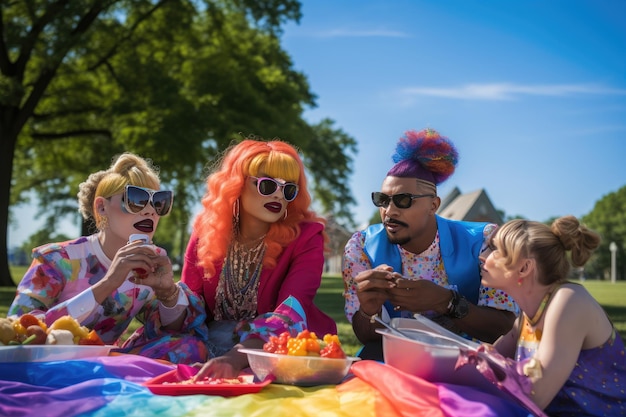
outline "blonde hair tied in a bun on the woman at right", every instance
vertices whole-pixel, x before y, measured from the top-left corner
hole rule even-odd
[[[510,269],[522,258],[533,258],[539,282],[550,285],[567,279],[571,265],[581,267],[587,263],[600,246],[601,237],[576,217],[563,216],[551,226],[536,221],[511,220],[498,229],[493,240],[500,253],[497,262]]]

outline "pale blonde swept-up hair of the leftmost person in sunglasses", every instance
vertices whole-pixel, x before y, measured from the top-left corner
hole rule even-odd
[[[78,211],[100,228],[102,218],[94,206],[96,197],[109,198],[122,193],[129,184],[158,190],[161,187],[158,168],[151,160],[130,152],[113,158],[109,169],[92,173],[79,185]]]

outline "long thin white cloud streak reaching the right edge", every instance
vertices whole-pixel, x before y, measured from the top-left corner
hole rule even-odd
[[[461,100],[515,100],[523,95],[563,97],[572,95],[625,95],[626,90],[593,84],[521,85],[511,83],[467,84],[460,87],[407,87],[407,97],[430,96]]]

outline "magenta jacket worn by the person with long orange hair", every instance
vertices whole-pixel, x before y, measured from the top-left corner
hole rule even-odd
[[[313,299],[322,282],[324,268],[324,225],[301,223],[300,235],[284,248],[277,259],[276,267],[263,269],[257,296],[257,313],[272,312],[289,296],[295,297],[306,313],[307,327],[317,334],[336,334],[337,325],[324,314]],[[197,266],[198,239],[192,234],[187,251],[181,281],[196,294],[204,297],[207,305],[207,320],[213,319],[215,293],[222,264],[216,265],[215,277],[203,279],[204,271]]]

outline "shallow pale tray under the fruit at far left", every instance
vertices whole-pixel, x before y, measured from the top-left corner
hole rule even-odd
[[[49,362],[108,356],[114,347],[111,345],[0,346],[0,362]]]

